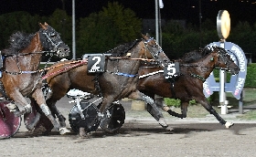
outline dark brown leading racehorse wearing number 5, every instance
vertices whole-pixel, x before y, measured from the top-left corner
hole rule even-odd
[[[219,114],[208,103],[203,93],[203,83],[208,78],[214,68],[229,70],[234,75],[240,71],[240,68],[229,57],[229,54],[221,47],[205,47],[199,51],[191,51],[184,58],[176,60],[180,65],[180,74],[176,78],[165,78],[163,68],[143,67],[139,70],[138,87],[145,95],[154,98],[155,94],[164,98],[174,98],[181,100],[181,114],[164,107],[170,115],[178,118],[187,117],[187,106],[189,100],[195,99],[210,114],[213,114],[219,123],[229,128],[232,122],[223,120]],[[155,81],[157,80],[157,81]],[[147,110],[152,112],[151,106]],[[154,113],[154,112],[153,112]]]

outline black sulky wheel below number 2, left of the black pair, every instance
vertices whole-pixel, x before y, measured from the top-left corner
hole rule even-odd
[[[80,128],[84,128],[86,132],[96,131],[101,121],[98,108],[89,101],[80,101],[80,108],[83,118],[77,105],[70,110],[69,124],[72,130],[79,132]]]

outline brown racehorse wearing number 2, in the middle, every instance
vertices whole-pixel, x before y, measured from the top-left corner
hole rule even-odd
[[[66,126],[65,118],[55,104],[65,96],[69,89],[80,89],[94,95],[100,94],[103,98],[100,108],[101,117],[113,101],[126,97],[144,100],[155,108],[158,117],[159,114],[162,114],[160,110],[156,109],[153,99],[136,89],[138,69],[144,64],[144,61],[152,61],[151,58],[154,58],[160,65],[170,61],[155,39],[149,35],[143,35],[142,39],[115,47],[107,53],[110,53],[111,56],[106,57],[105,71],[102,73],[89,73],[86,60],[61,61],[52,65],[52,68],[48,70],[46,78],[51,95],[47,99],[47,104],[52,113],[59,118],[61,127]],[[166,126],[162,119],[158,122],[164,127]],[[31,123],[29,128],[32,129],[36,125],[36,122]],[[102,129],[107,127],[107,124],[101,126]]]

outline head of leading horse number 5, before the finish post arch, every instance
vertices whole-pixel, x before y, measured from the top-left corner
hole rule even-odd
[[[220,69],[228,70],[232,75],[239,73],[240,68],[234,63],[232,58],[230,58],[229,53],[224,48],[221,48],[221,47],[212,47],[212,48],[213,48],[213,51],[218,54],[217,55],[218,59],[215,63],[216,67]]]

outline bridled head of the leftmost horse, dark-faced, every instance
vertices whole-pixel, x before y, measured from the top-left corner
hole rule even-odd
[[[39,26],[41,27],[39,36],[42,46],[51,52],[56,52],[59,58],[69,56],[69,47],[62,41],[59,33],[47,23],[39,23]]]

